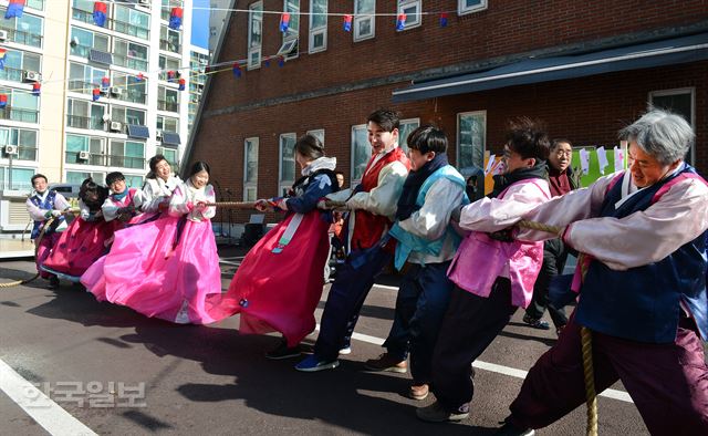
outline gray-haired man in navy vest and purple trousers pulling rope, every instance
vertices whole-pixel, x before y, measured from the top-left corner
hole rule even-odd
[[[650,434],[708,434],[706,230],[708,185],[684,162],[694,143],[686,121],[650,110],[620,132],[634,159],[527,212],[513,200],[476,230],[520,219],[562,228],[585,255],[575,312],[558,343],[529,372],[499,434],[529,435],[585,402],[581,326],[592,332],[595,388],[621,380]],[[522,229],[520,240],[554,235]],[[582,268],[585,269],[585,268]],[[579,268],[579,271],[581,268]]]

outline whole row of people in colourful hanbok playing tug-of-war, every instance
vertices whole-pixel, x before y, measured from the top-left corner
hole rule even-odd
[[[541,320],[548,309],[558,342],[530,370],[499,434],[533,434],[585,402],[581,326],[592,332],[598,392],[621,380],[652,434],[708,434],[708,184],[684,160],[695,134],[681,117],[650,108],[623,128],[628,169],[586,188],[570,166],[569,141],[551,142],[529,118],[512,121],[493,190],[471,203],[440,129],[415,129],[407,153],[397,113],[372,113],[367,131],[372,157],[353,189],[342,189],[336,159],[316,137],[298,139],[302,177],[288,196],[254,205],[284,217],[246,255],[226,292],[209,165],[195,163],[180,180],[160,155],[142,189],[126,187],[121,173],[106,176],[107,188],[86,179],[77,211],[35,175],[27,206],[32,238],[41,239],[38,269],[51,287],[58,277],[80,280],[100,301],[175,323],[240,313],[240,332],[282,334],[269,359],[296,357],[315,330],[332,224],[341,226],[344,214],[337,240],[346,257],[314,350],[295,370],[339,366],[375,278],[393,262],[402,273],[395,318],[386,352],[366,368],[406,373],[409,362],[408,395],[436,398],[417,408],[420,419],[466,418],[472,362],[518,308],[538,329],[550,328]],[[76,219],[52,231],[67,211]],[[517,226],[522,219],[560,231]],[[569,252],[580,257],[568,284],[576,307],[566,318],[549,289]]]

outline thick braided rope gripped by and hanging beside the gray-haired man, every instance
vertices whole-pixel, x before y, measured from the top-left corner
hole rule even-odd
[[[517,224],[519,227],[527,229],[548,231],[549,233],[555,233],[562,236],[562,228],[556,226],[546,226],[541,222],[521,220]],[[585,262],[583,260],[584,255],[581,253],[577,257],[577,262],[581,266],[581,272],[583,277],[587,272],[585,269]],[[592,332],[590,329],[581,326],[581,345],[583,354],[583,375],[585,382],[585,404],[587,405],[587,436],[597,435],[597,394],[595,393],[595,373],[593,370],[593,345],[592,345]]]

